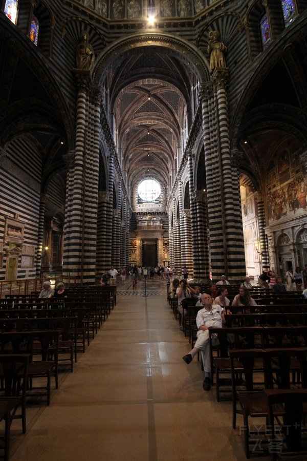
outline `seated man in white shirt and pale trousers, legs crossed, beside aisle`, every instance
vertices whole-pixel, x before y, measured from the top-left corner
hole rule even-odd
[[[210,390],[211,387],[211,364],[210,364],[210,345],[209,345],[209,328],[222,328],[225,323],[224,307],[218,304],[212,305],[212,298],[207,293],[202,295],[202,301],[199,301],[196,306],[204,306],[203,309],[199,310],[196,316],[196,325],[198,326],[197,340],[193,349],[184,355],[183,360],[188,365],[192,362],[193,357],[201,350],[205,380],[203,383],[204,390]],[[212,335],[212,344],[218,344],[218,339],[215,335]]]

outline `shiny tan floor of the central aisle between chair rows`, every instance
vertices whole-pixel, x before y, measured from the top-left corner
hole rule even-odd
[[[146,294],[143,281],[118,286],[111,316],[60,375],[50,406],[28,408],[25,435],[13,423],[13,461],[246,459],[231,402],[203,390],[200,362],[182,360],[189,344],[165,282],[147,282]]]

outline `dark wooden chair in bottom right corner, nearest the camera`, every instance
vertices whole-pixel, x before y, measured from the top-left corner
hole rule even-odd
[[[288,453],[288,458],[279,459],[307,459],[307,452],[301,452],[302,449],[302,424],[304,414],[304,404],[307,403],[307,389],[289,389],[289,390],[265,390],[265,395],[268,402],[268,421],[272,428],[272,442],[275,442],[275,447],[282,455],[284,448]],[[282,406],[283,412],[282,422],[280,417],[275,413],[276,406]],[[275,418],[278,423],[278,436],[275,430]],[[307,439],[305,437],[305,449],[307,447]],[[284,447],[286,445],[286,447]],[[272,451],[272,459],[276,459],[276,451]],[[304,457],[300,457],[304,456]]]

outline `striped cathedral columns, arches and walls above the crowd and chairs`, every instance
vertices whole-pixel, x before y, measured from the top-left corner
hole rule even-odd
[[[307,264],[306,0],[3,0],[0,278]]]

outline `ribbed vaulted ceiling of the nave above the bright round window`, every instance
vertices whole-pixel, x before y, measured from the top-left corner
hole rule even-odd
[[[147,175],[168,186],[189,106],[188,69],[161,49],[144,48],[127,55],[108,81],[117,145],[130,188]]]

